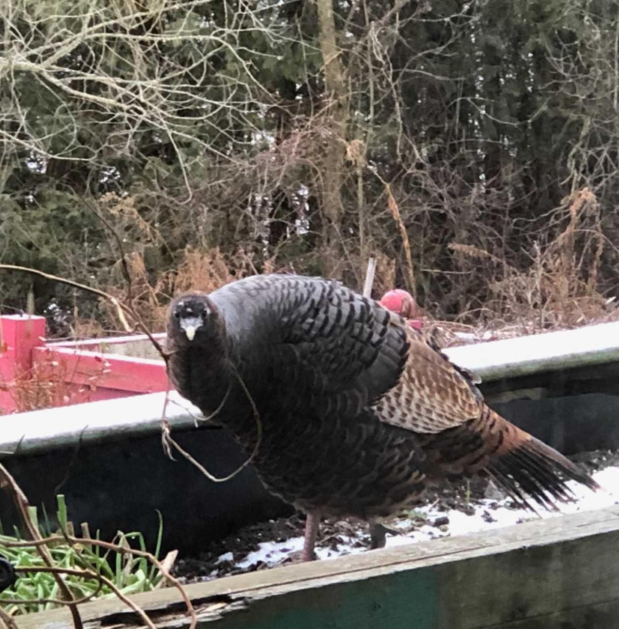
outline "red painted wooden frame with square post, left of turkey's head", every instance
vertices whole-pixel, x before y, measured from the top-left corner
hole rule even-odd
[[[143,336],[52,342],[45,338],[44,317],[3,315],[0,339],[0,413],[123,398],[167,387],[162,360],[126,355],[131,345],[147,342]]]

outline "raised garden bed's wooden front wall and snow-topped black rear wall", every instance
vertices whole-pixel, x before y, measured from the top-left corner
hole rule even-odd
[[[619,448],[619,398],[615,384],[619,324],[452,348],[447,353],[484,378],[481,388],[491,406],[566,454]],[[186,461],[166,459],[159,431],[163,398],[159,393],[12,416],[6,426],[0,424],[0,450],[16,453],[4,455],[4,464],[31,503],[45,502],[49,513],[53,510],[53,496],[61,489],[67,495],[70,518],[76,523],[89,521],[91,530],[101,528],[103,538],[118,528],[142,530],[152,545],[158,524],[155,509],[160,509],[164,515],[164,551],[179,548],[181,557],[198,555],[242,526],[290,515],[287,506],[264,492],[251,470],[244,470],[225,484],[214,484]],[[182,404],[187,408],[186,403]],[[218,476],[235,469],[243,457],[234,443],[212,426],[196,428],[194,416],[185,408],[169,404],[167,410],[181,445]],[[5,524],[16,521],[4,503],[0,504],[0,518]],[[422,629],[503,625],[550,628],[560,626],[549,624],[551,621],[567,618],[561,616],[564,610],[584,618],[584,608],[593,610],[591,618],[608,620],[605,614],[616,610],[616,595],[609,594],[610,586],[606,584],[590,587],[593,567],[581,565],[586,563],[582,559],[581,564],[572,564],[570,553],[580,557],[581,547],[585,549],[583,553],[593,552],[602,544],[600,536],[607,538],[604,543],[608,548],[613,548],[619,530],[619,511],[615,507],[526,523],[516,529],[363,552],[282,571],[259,571],[196,584],[191,586],[191,592],[204,598],[205,606],[211,606],[210,611],[204,611],[204,622],[226,627],[310,626],[303,624],[303,614],[313,619],[311,626],[325,626],[321,619],[327,617],[327,611],[328,617],[334,619],[334,627],[377,626],[368,621],[361,623],[357,612],[348,608],[349,603],[356,605],[365,610],[362,615],[366,620],[374,618],[374,611],[368,611],[362,602],[365,600],[377,606],[376,610],[381,606],[388,625],[389,615],[394,614],[389,625],[393,627],[411,626],[404,624],[406,619],[418,618],[418,624],[413,626]],[[543,543],[535,547],[535,552],[518,552],[522,543],[536,539]],[[553,563],[555,556],[559,563]],[[450,565],[447,572],[445,564]],[[521,565],[528,579],[542,582],[537,591],[532,591],[528,581],[513,582],[511,589],[503,584],[499,573],[513,577],[518,569],[515,565]],[[482,569],[488,570],[488,582],[476,576]],[[601,571],[602,567],[598,569]],[[450,576],[452,571],[457,579]],[[544,576],[555,572],[556,578]],[[619,576],[613,570],[609,574],[608,569],[605,574],[613,584],[613,592],[619,592]],[[574,579],[584,580],[582,595],[572,592]],[[374,587],[370,582],[381,596],[369,596],[369,589]],[[464,593],[461,599],[460,594],[452,594],[458,582]],[[479,594],[472,593],[469,582],[477,584]],[[501,587],[491,587],[495,583]],[[484,614],[479,611],[484,608],[482,594],[488,601]],[[346,601],[336,603],[343,600],[342,596]],[[396,599],[403,596],[406,601],[397,603]],[[554,603],[549,601],[552,596]],[[467,603],[469,599],[471,602]],[[162,614],[167,614],[170,610],[166,601],[178,601],[178,595],[165,591],[140,600],[150,601],[147,606],[159,607]],[[238,611],[247,605],[250,614]],[[477,616],[467,616],[468,624],[448,623],[455,622],[455,616],[450,614],[458,609],[469,610],[473,605],[479,609]],[[104,620],[99,624],[93,621],[89,626],[114,626],[112,621],[119,627],[133,626],[127,624],[130,616],[116,615],[116,611],[106,616],[112,613],[109,610],[120,610],[120,606],[117,601],[93,604],[88,608],[94,610],[92,618],[99,614]],[[176,609],[181,608],[178,603]],[[221,616],[222,610],[230,613]],[[62,618],[63,613],[52,612],[49,617]],[[31,622],[25,619],[20,626],[45,627],[46,619],[47,616],[41,616],[39,625],[22,624]],[[65,625],[53,626],[56,629]],[[161,626],[187,623],[166,620]],[[613,625],[566,625],[572,626]]]

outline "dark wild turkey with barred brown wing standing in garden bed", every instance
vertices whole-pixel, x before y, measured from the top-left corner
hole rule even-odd
[[[320,516],[367,520],[384,545],[381,518],[445,477],[485,472],[528,508],[569,501],[567,479],[598,487],[486,406],[403,318],[335,281],[254,276],[179,296],[167,350],[177,390],[247,452],[259,414],[255,469],[308,515],[305,560]]]

